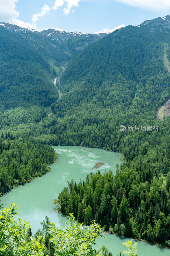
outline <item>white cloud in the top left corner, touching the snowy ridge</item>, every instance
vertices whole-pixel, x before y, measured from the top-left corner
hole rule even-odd
[[[16,24],[23,28],[34,28],[33,24],[18,20],[19,12],[16,11],[16,3],[19,0],[0,1],[0,22]]]

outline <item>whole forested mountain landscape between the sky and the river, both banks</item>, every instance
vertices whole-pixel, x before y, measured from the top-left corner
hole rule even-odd
[[[49,145],[120,152],[114,177],[71,181],[61,202],[69,211],[76,202],[75,214],[78,202],[83,212],[90,206],[118,234],[169,244],[169,17],[100,36],[1,23],[0,193],[45,173],[55,159]]]

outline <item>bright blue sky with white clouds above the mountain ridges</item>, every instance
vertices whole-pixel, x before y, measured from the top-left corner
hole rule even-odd
[[[0,0],[0,22],[67,32],[111,32],[168,14],[170,0]]]

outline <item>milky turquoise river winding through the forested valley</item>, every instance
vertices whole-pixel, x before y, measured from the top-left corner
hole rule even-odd
[[[42,177],[32,180],[24,186],[13,188],[9,193],[1,197],[1,203],[8,207],[11,203],[18,204],[17,218],[28,220],[32,225],[33,233],[41,228],[40,222],[47,215],[50,221],[55,222],[56,226],[65,227],[67,218],[54,211],[54,199],[63,187],[67,185],[67,180],[73,179],[76,182],[85,180],[90,172],[96,172],[92,168],[98,162],[105,164],[97,170],[103,173],[105,170],[112,170],[115,173],[116,164],[121,164],[121,155],[105,151],[102,149],[84,147],[54,147],[58,153],[58,160],[50,165],[51,171]],[[127,237],[116,236],[114,234],[106,235],[107,239],[96,239],[96,249],[102,245],[113,252],[114,256],[126,250],[122,243],[126,242]],[[143,256],[170,256],[170,250],[140,241],[138,244],[138,253]],[[122,254],[123,255],[123,254]]]

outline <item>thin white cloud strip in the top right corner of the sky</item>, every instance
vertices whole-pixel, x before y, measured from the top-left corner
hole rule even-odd
[[[170,8],[169,0],[115,0],[117,2],[122,2],[125,4],[129,4],[132,6],[136,6],[143,9],[151,9],[151,10],[163,10],[167,11]]]

